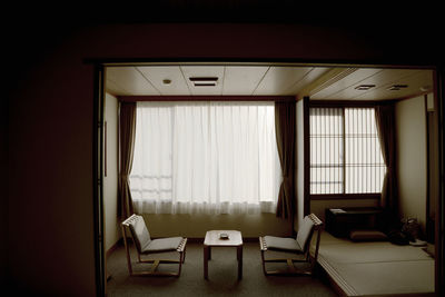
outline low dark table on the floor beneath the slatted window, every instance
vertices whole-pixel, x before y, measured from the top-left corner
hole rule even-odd
[[[352,230],[384,229],[383,209],[377,207],[326,208],[326,230],[335,237],[349,237]]]

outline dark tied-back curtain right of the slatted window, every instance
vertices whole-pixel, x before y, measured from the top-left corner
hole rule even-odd
[[[396,135],[394,105],[382,105],[375,108],[378,139],[386,165],[386,175],[382,188],[380,207],[388,215],[398,218],[398,192],[396,179]]]

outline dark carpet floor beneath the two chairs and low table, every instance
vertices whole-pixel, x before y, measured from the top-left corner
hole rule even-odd
[[[135,270],[150,267],[149,264],[137,264],[136,253],[132,251]],[[336,296],[319,277],[266,277],[261,270],[258,242],[244,245],[244,277],[239,281],[235,248],[212,248],[208,280],[204,279],[202,254],[201,244],[187,244],[186,263],[179,278],[129,277],[125,249],[119,247],[107,259],[110,275],[107,283],[108,296]],[[176,255],[160,256],[169,258]],[[174,271],[177,266],[161,265],[159,268]]]

